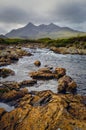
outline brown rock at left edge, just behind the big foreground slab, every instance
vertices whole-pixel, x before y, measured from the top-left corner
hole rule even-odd
[[[26,88],[20,89],[17,82],[0,82],[0,101],[9,102],[21,98],[28,93]]]

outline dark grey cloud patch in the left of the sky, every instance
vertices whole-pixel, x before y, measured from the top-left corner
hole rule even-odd
[[[24,23],[28,19],[28,13],[17,7],[0,9],[0,22]]]

